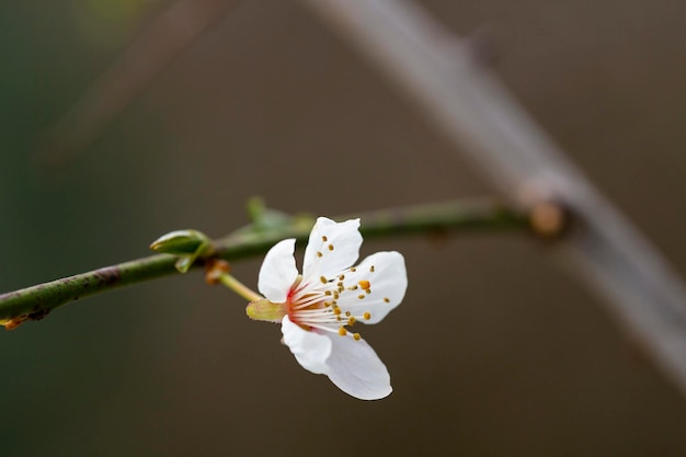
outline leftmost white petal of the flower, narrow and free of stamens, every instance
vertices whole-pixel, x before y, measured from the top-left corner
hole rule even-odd
[[[275,304],[286,301],[290,286],[298,277],[296,260],[293,256],[295,244],[295,239],[279,241],[270,249],[262,262],[258,289]]]

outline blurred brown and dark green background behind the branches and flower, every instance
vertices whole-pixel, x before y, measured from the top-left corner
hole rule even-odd
[[[488,41],[517,99],[686,276],[686,3],[421,3]],[[216,8],[66,153],[55,125],[171,5],[0,4],[1,290],[147,255],[173,229],[222,236],[254,195],[327,216],[493,195],[411,101],[283,0]],[[374,240],[363,255],[388,249],[405,255],[408,295],[364,329],[391,373],[388,399],[357,401],[305,372],[277,325],[192,273],[2,332],[0,454],[686,453],[686,401],[549,247],[484,233]],[[260,264],[233,271],[254,286]]]

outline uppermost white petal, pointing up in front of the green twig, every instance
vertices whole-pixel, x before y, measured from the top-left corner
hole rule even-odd
[[[325,217],[318,218],[305,250],[302,276],[330,277],[339,274],[355,263],[361,245],[359,219],[335,222]]]

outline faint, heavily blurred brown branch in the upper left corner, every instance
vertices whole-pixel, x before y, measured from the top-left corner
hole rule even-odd
[[[179,0],[152,21],[47,134],[36,159],[60,165],[95,141],[183,52],[238,0]]]

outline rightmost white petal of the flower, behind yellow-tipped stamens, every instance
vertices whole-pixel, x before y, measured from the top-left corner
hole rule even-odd
[[[355,272],[345,273],[347,286],[359,284],[361,281],[369,282],[370,293],[365,294],[362,289],[346,290],[341,294],[338,304],[343,311],[351,311],[354,316],[368,311],[371,318],[358,321],[377,323],[400,305],[405,295],[408,272],[402,254],[396,251],[377,252],[362,261]],[[359,299],[361,296],[364,298]]]

